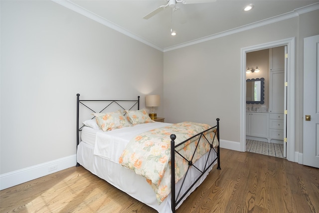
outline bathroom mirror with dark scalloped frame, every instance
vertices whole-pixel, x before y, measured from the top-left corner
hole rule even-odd
[[[246,80],[246,103],[264,104],[265,79],[247,79]]]

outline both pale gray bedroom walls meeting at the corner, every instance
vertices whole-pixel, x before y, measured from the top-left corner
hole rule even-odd
[[[76,153],[76,93],[141,95],[141,107],[146,94],[160,94],[166,122],[213,125],[219,117],[221,139],[239,142],[240,50],[290,37],[302,152],[303,38],[319,34],[319,10],[163,53],[52,1],[0,7],[0,174]]]

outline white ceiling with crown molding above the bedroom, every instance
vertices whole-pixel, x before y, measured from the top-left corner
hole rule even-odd
[[[161,51],[212,39],[317,10],[319,0],[216,0],[167,7],[149,19],[143,16],[166,0],[53,0]],[[186,0],[187,1],[187,0]],[[254,8],[244,11],[247,4]],[[308,6],[311,5],[311,6]],[[177,35],[170,35],[173,28]]]

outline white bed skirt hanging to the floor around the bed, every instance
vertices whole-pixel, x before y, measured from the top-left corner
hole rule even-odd
[[[119,190],[127,193],[136,200],[152,207],[159,213],[171,213],[171,200],[170,194],[168,197],[159,205],[157,203],[156,194],[152,187],[146,182],[146,179],[135,172],[122,167],[120,164],[114,163],[105,158],[93,155],[94,146],[89,145],[85,142],[81,142],[77,149],[77,162],[83,166],[85,169],[90,171],[92,174],[98,176],[99,178],[107,181]],[[202,168],[201,166],[206,163],[208,153],[201,157],[194,165]],[[209,161],[213,161],[216,158],[216,153],[210,154]],[[215,165],[217,161],[213,165]],[[195,186],[188,192],[187,196],[184,197],[183,201],[193,192],[207,177],[208,172],[211,171],[213,165],[209,168],[205,175],[195,184]],[[191,186],[190,180],[196,180],[199,172],[191,168],[188,172],[187,178],[184,183],[184,187]],[[196,178],[195,178],[196,177]],[[179,189],[182,180],[176,184],[176,190]],[[176,192],[177,194],[178,192]],[[182,204],[180,202],[176,209]]]

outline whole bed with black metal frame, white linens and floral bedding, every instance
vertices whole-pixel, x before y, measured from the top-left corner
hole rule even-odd
[[[76,166],[83,166],[92,174],[159,213],[174,213],[205,180],[215,164],[217,169],[220,169],[219,119],[216,119],[217,124],[213,127],[193,122],[178,124],[154,122],[148,118],[146,120],[149,122],[136,124],[133,120],[135,117],[130,115],[135,116],[134,113],[140,112],[145,113],[140,109],[140,96],[136,100],[81,100],[80,94],[77,94]],[[126,117],[130,125],[120,119],[121,128],[103,131],[114,126],[104,125],[105,120],[99,120],[101,115],[118,115],[118,113]],[[197,126],[189,128],[190,125]],[[187,134],[184,134],[183,130],[187,130]],[[150,137],[152,140],[140,140]],[[140,147],[134,138],[139,138]],[[151,150],[152,146],[158,143],[152,143],[152,146],[149,146],[149,143],[156,140],[164,141],[165,149],[161,145],[161,150],[169,152],[168,159],[166,155],[155,155]],[[129,153],[131,149],[135,149],[134,154]],[[142,152],[139,154],[137,150]],[[131,165],[133,156],[137,158],[137,154],[146,159],[156,156],[158,160],[156,162],[136,160]],[[152,164],[152,168],[160,168],[160,179],[154,173],[145,170],[150,167],[150,162],[155,165]]]

